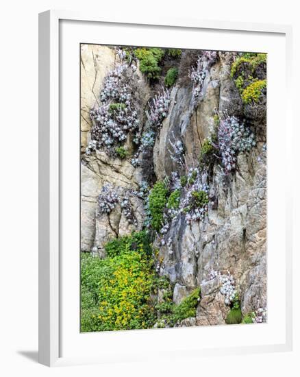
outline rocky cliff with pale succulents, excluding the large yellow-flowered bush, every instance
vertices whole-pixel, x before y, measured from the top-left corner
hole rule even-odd
[[[105,258],[105,243],[147,229],[173,302],[201,289],[195,315],[177,326],[225,324],[237,301],[243,316],[266,308],[266,90],[257,84],[266,61],[196,52],[165,53],[162,74],[179,71],[168,89],[130,51],[83,45],[81,54],[82,252]],[[130,88],[130,110],[103,97],[113,83]],[[123,134],[112,134],[112,112]],[[157,226],[158,182],[166,195]]]

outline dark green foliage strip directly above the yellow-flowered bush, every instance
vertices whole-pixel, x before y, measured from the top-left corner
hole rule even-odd
[[[104,245],[106,255],[110,258],[128,252],[129,250],[142,250],[145,256],[151,256],[152,247],[147,231],[132,232],[130,236],[113,239]]]

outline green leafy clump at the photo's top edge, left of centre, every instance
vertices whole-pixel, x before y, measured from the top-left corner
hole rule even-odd
[[[138,60],[140,60],[140,71],[145,73],[151,80],[158,79],[162,69],[158,64],[164,56],[164,50],[158,48],[147,49],[142,47],[134,51]]]

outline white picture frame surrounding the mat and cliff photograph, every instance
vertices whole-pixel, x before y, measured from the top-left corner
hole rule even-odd
[[[62,267],[62,176],[61,164],[62,156],[64,156],[64,149],[66,147],[65,138],[62,138],[62,121],[63,117],[60,114],[60,106],[62,106],[62,98],[60,97],[60,90],[62,81],[60,68],[62,62],[62,21],[73,23],[93,23],[93,25],[117,25],[118,28],[124,30],[129,27],[143,28],[163,27],[164,30],[170,31],[171,29],[181,29],[185,32],[189,30],[205,30],[212,32],[218,30],[219,32],[232,32],[236,33],[252,33],[256,37],[260,35],[273,35],[281,36],[284,38],[284,78],[281,80],[284,87],[286,87],[286,103],[283,104],[285,114],[283,134],[288,140],[291,137],[291,124],[290,120],[290,80],[291,80],[291,27],[286,25],[268,25],[268,24],[255,24],[255,23],[229,23],[223,21],[202,21],[197,19],[167,19],[159,17],[154,20],[145,19],[127,19],[121,18],[103,19],[101,16],[95,14],[83,14],[77,12],[65,11],[47,11],[39,16],[39,362],[48,366],[58,365],[74,365],[78,363],[103,363],[107,361],[124,361],[131,358],[132,360],[142,360],[143,356],[137,352],[129,350],[129,353],[116,352],[112,354],[109,350],[110,342],[117,339],[118,341],[142,341],[143,337],[151,338],[155,341],[156,338],[168,337],[168,341],[172,344],[172,339],[177,337],[173,329],[166,330],[137,330],[134,332],[121,332],[122,334],[116,335],[116,332],[106,333],[101,336],[101,333],[94,333],[92,337],[85,340],[85,346],[88,343],[96,341],[107,344],[107,354],[81,354],[71,352],[68,356],[62,354],[62,324],[64,321],[63,302],[62,302],[62,282],[64,281],[65,267]],[[73,26],[74,27],[74,26]],[[100,38],[101,39],[101,38]],[[90,40],[82,40],[82,42],[90,42]],[[99,43],[101,40],[99,40]],[[107,42],[103,42],[105,44]],[[112,43],[113,44],[113,43]],[[117,44],[117,42],[115,43]],[[120,45],[122,42],[119,43]],[[147,44],[146,44],[147,45]],[[171,46],[170,46],[171,47]],[[206,47],[209,48],[209,47]],[[238,51],[240,51],[237,47]],[[255,51],[255,50],[254,50]],[[78,82],[79,84],[79,82]],[[78,101],[79,112],[79,101]],[[79,124],[79,123],[78,123]],[[286,147],[286,155],[284,155],[284,162],[286,166],[291,160],[291,151]],[[268,156],[269,158],[269,156]],[[286,175],[290,175],[287,169]],[[292,180],[286,180],[292,182]],[[285,217],[284,234],[285,243],[284,250],[279,250],[280,256],[285,258],[284,271],[284,326],[282,327],[282,339],[275,343],[265,344],[264,342],[257,345],[247,345],[246,343],[240,346],[229,346],[227,348],[222,345],[216,345],[216,348],[201,347],[201,354],[225,354],[225,353],[246,353],[246,352],[272,352],[272,351],[287,351],[292,349],[292,224],[290,216],[292,206],[291,188],[285,186],[286,201],[281,210]],[[279,263],[280,264],[280,263]],[[72,266],[72,263],[71,263]],[[74,287],[79,291],[78,286]],[[64,295],[65,297],[65,295]],[[75,299],[74,299],[75,300]],[[266,325],[268,326],[268,325]],[[198,329],[197,329],[198,330]],[[79,331],[79,328],[78,328]],[[181,331],[181,330],[180,330]],[[187,332],[184,332],[187,331]],[[195,328],[188,328],[181,331],[181,336],[188,339]],[[220,330],[221,331],[221,330]],[[223,331],[223,330],[222,330]],[[172,333],[172,335],[171,335]],[[176,336],[174,335],[176,334]],[[67,335],[68,336],[68,335]],[[71,338],[70,338],[71,339]],[[83,338],[82,338],[83,339]],[[131,340],[130,340],[131,339]],[[151,343],[150,341],[150,343]],[[88,342],[88,343],[87,343]],[[69,342],[70,343],[70,342]],[[112,345],[113,347],[113,345]],[[78,348],[79,350],[79,348]],[[191,356],[198,354],[198,349],[195,345],[194,348],[189,348],[188,352]],[[177,357],[179,355],[178,349],[169,349],[168,356]],[[184,352],[180,352],[184,354]]]

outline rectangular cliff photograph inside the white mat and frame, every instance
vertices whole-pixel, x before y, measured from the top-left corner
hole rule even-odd
[[[267,321],[267,56],[80,44],[80,332]]]

